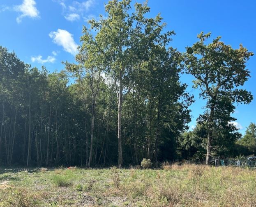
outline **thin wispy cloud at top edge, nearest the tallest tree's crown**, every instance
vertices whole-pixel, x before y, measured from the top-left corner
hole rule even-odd
[[[71,5],[66,5],[65,0],[53,0],[58,2],[62,7],[62,15],[65,19],[73,22],[79,20],[80,17],[86,16],[85,13],[88,13],[90,8],[95,6],[95,0],[85,0],[83,2],[73,1]]]

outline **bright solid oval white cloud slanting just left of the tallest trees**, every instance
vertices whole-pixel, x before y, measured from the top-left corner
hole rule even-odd
[[[49,36],[53,42],[63,47],[66,52],[76,55],[78,45],[73,39],[73,35],[67,30],[58,29],[57,32],[50,32]]]

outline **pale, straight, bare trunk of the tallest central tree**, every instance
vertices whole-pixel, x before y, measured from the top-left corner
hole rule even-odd
[[[120,72],[120,86],[118,93],[118,167],[121,168],[123,164],[122,157],[122,73]]]

